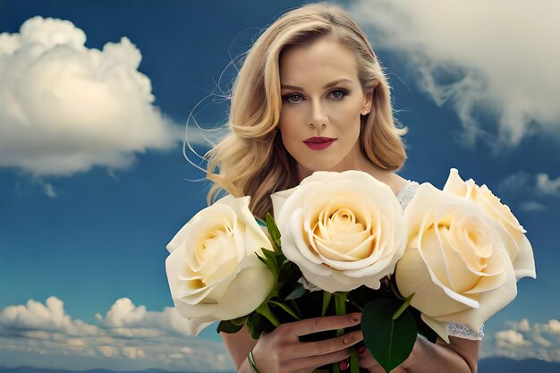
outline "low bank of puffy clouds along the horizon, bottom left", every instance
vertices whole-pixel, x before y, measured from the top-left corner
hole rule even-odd
[[[73,319],[55,297],[6,307],[0,310],[0,360],[51,369],[234,369],[223,343],[187,336],[174,308],[148,311],[122,298],[96,318],[97,325]]]

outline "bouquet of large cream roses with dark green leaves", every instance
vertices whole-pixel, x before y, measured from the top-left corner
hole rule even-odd
[[[359,171],[317,172],[271,198],[267,233],[248,197],[225,197],[167,245],[174,304],[193,334],[220,321],[218,331],[246,325],[258,338],[283,322],[361,311],[365,346],[388,372],[418,334],[449,342],[452,321],[479,330],[513,301],[519,278],[535,277],[510,209],[455,169],[443,191],[421,184],[404,211]]]

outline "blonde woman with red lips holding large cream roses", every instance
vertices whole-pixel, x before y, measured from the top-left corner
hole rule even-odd
[[[271,193],[318,170],[367,172],[398,195],[414,182],[395,174],[406,159],[389,87],[369,41],[344,11],[308,4],[285,13],[255,42],[233,86],[231,133],[209,153],[209,198],[225,190],[250,195],[255,216],[272,210]],[[216,173],[216,170],[219,172]],[[277,327],[253,340],[243,329],[222,334],[239,372],[312,372],[341,361],[360,331],[315,343],[300,335],[355,326],[360,314],[312,318]],[[453,333],[451,343],[419,337],[399,372],[475,372],[479,340]],[[475,338],[463,338],[472,337]],[[360,366],[383,372],[359,349]]]

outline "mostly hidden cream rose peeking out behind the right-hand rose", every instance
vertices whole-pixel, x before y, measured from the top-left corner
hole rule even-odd
[[[498,223],[504,226],[517,245],[516,250],[511,252],[515,276],[517,278],[525,276],[536,277],[533,250],[527,236],[524,234],[527,231],[523,229],[517,218],[513,216],[511,209],[500,202],[500,199],[488,189],[486,184],[478,186],[472,179],[464,182],[461,176],[459,176],[457,169],[452,168],[449,171],[447,182],[445,182],[444,191],[472,200],[481,208],[484,208],[489,216],[492,216]]]

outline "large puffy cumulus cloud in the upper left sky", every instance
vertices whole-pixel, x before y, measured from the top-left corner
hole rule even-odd
[[[0,34],[0,166],[64,175],[126,168],[136,152],[182,139],[153,106],[140,51],[128,38],[85,47],[70,21],[25,21]]]

